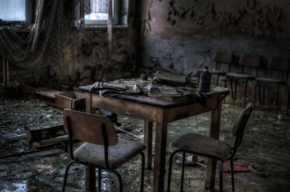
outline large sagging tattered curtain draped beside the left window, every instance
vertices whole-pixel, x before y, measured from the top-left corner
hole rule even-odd
[[[40,0],[35,24],[25,40],[7,26],[0,26],[0,55],[21,69],[60,62],[63,7],[63,0]]]

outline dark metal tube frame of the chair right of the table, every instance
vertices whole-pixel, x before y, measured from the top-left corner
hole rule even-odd
[[[251,103],[251,102],[250,102]],[[250,104],[249,103],[249,104]],[[249,105],[248,104],[248,105]],[[247,106],[248,106],[247,105]],[[251,104],[252,105],[252,104]],[[246,107],[247,108],[247,107]],[[245,126],[247,124],[247,121],[251,115],[253,108],[250,109],[249,114],[246,114],[243,117],[243,121],[241,123],[241,126],[238,130],[238,133],[236,135],[236,139],[235,139],[235,144],[233,147],[231,147],[231,152],[228,156],[224,157],[224,158],[218,158],[215,156],[209,156],[209,155],[205,155],[205,154],[201,154],[201,153],[197,153],[197,152],[193,152],[193,151],[189,151],[186,149],[176,149],[175,151],[172,152],[170,159],[169,159],[169,169],[168,169],[168,181],[167,181],[167,192],[170,192],[170,184],[171,184],[171,170],[172,170],[172,162],[173,162],[173,156],[177,153],[177,152],[183,152],[182,155],[182,165],[181,165],[181,179],[180,179],[180,191],[183,191],[183,180],[184,180],[184,165],[185,165],[185,154],[186,153],[190,153],[190,154],[196,154],[199,156],[204,156],[204,157],[208,157],[208,158],[213,158],[213,159],[217,159],[220,160],[220,164],[219,164],[219,180],[220,180],[220,191],[223,191],[223,181],[222,181],[222,168],[223,168],[223,163],[226,160],[230,160],[230,165],[231,165],[231,185],[232,185],[232,191],[235,191],[235,186],[234,186],[234,175],[233,175],[233,156],[236,153],[236,150],[238,149],[238,147],[241,145],[242,143],[242,138],[243,138],[243,134],[244,134],[244,129]]]

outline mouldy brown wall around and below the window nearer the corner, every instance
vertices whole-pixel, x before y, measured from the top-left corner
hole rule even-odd
[[[70,2],[66,2],[71,10]],[[86,29],[72,32],[68,23],[70,13],[65,14],[68,26],[64,30],[63,60],[50,66],[50,75],[59,84],[89,85],[96,81],[111,81],[135,76],[138,16],[137,1],[129,1],[128,27],[113,27],[112,59],[107,60],[107,30]]]

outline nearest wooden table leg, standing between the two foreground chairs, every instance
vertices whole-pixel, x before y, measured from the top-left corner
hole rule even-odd
[[[153,170],[153,192],[164,191],[164,173],[167,139],[167,121],[164,111],[157,113],[155,131],[155,153]]]

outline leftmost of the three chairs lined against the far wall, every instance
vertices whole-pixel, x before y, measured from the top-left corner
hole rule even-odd
[[[233,62],[233,53],[227,51],[216,51],[213,55],[215,62],[215,70],[209,70],[211,75],[217,75],[216,86],[220,76],[226,76],[226,73],[231,71],[231,63]],[[203,69],[199,70],[198,82],[200,81],[200,73]]]

